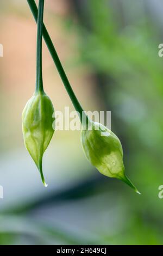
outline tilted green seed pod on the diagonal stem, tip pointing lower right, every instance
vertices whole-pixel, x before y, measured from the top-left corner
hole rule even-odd
[[[89,120],[89,127],[82,129],[81,142],[87,160],[100,173],[126,182],[139,193],[125,174],[122,145],[113,132],[102,124]]]

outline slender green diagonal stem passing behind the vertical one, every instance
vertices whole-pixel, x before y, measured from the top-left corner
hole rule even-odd
[[[35,3],[34,0],[27,0],[27,2],[29,4],[30,10],[33,13],[34,19],[37,22],[38,10],[37,10],[36,3]],[[50,38],[50,36],[49,36],[49,34],[47,32],[47,29],[46,29],[44,24],[43,24],[43,38],[44,38],[44,40],[46,42],[46,45],[48,47],[49,52],[51,53],[53,61],[54,61],[55,65],[56,65],[56,67],[58,69],[58,72],[59,72],[61,80],[64,83],[64,86],[65,86],[65,88],[67,90],[67,93],[70,96],[70,99],[71,99],[71,101],[73,103],[73,106],[76,109],[76,111],[79,112],[80,120],[82,121],[82,114],[84,114],[83,108],[80,105],[76,95],[74,94],[74,92],[73,92],[73,90],[71,88],[70,82],[68,81],[68,78],[67,78],[67,76],[65,74],[64,68],[62,67],[62,64],[61,64],[60,59],[58,57],[58,54],[57,54],[57,52],[55,50],[53,42],[52,42],[52,40],[51,40],[51,38]]]

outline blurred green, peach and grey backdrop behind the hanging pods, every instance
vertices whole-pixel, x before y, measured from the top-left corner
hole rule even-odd
[[[1,0],[1,245],[163,243],[161,0],[46,0],[44,20],[85,110],[111,111],[126,173],[141,196],[98,173],[79,131],[56,131],[48,187],[24,148],[21,113],[35,86],[36,25],[26,0]],[[55,110],[72,103],[43,43],[43,82]]]

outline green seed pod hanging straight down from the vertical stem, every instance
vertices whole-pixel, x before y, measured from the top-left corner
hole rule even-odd
[[[47,186],[42,172],[42,156],[53,136],[54,108],[44,92],[35,92],[22,113],[24,144],[40,171],[42,182]]]

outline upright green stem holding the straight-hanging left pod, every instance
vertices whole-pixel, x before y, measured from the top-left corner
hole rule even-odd
[[[39,0],[39,13],[38,13],[38,19],[37,19],[36,92],[43,92],[43,81],[42,81],[43,6],[44,6],[44,0]]]

